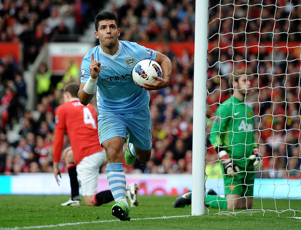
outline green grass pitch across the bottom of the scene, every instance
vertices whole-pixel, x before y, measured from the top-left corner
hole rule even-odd
[[[0,230],[301,228],[301,212],[291,211],[301,210],[301,200],[254,199],[253,210],[235,210],[234,214],[209,208],[205,215],[191,216],[191,206],[172,207],[175,196],[139,196],[139,205],[130,208],[131,221],[120,221],[111,214],[114,202],[99,207],[60,206],[68,198],[66,195],[0,195]],[[278,213],[273,211],[276,208]]]

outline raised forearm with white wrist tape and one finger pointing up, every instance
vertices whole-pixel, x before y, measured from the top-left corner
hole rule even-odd
[[[88,105],[93,99],[96,83],[98,79],[98,74],[100,72],[100,62],[94,60],[94,54],[91,54],[91,64],[90,67],[90,77],[86,83],[80,84],[80,90],[78,91],[78,98],[80,103],[83,105]]]

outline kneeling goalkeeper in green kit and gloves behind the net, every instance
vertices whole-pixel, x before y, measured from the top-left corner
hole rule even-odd
[[[226,196],[209,190],[205,196],[206,206],[250,209],[253,205],[254,171],[262,169],[262,156],[254,137],[254,112],[245,103],[251,74],[248,70],[239,69],[229,75],[233,95],[216,110],[209,140],[223,166]],[[191,192],[178,197],[173,206],[177,208],[188,204],[191,204]]]

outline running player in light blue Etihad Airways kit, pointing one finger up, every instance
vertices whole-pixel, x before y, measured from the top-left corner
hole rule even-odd
[[[99,141],[105,148],[108,162],[106,174],[116,202],[111,211],[120,220],[130,220],[122,147],[128,133],[124,155],[126,163],[131,164],[136,158],[143,162],[150,159],[152,135],[148,90],[168,86],[171,61],[158,51],[134,42],[119,41],[121,30],[118,28],[118,18],[112,11],[96,15],[95,30],[100,45],[89,50],[83,59],[78,97],[82,104],[87,105],[96,91]],[[144,83],[142,89],[134,83],[132,70],[143,59],[159,63],[162,78],[153,76],[156,82]],[[89,122],[89,119],[87,117],[86,121]]]

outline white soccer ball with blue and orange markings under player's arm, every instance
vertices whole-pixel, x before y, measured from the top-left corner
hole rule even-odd
[[[162,69],[157,62],[150,59],[137,62],[132,71],[133,80],[140,88],[144,82],[154,83],[156,81],[152,75],[162,78]]]

